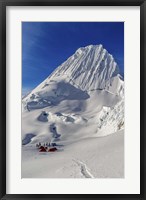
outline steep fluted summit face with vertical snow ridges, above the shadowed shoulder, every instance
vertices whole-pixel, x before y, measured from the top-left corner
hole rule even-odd
[[[64,74],[82,90],[104,89],[106,82],[119,74],[119,67],[102,45],[89,45],[79,48],[57,68],[53,77]]]

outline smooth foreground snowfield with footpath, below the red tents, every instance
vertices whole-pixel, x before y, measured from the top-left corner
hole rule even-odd
[[[124,178],[124,134],[88,138],[39,153],[24,146],[22,178]]]

